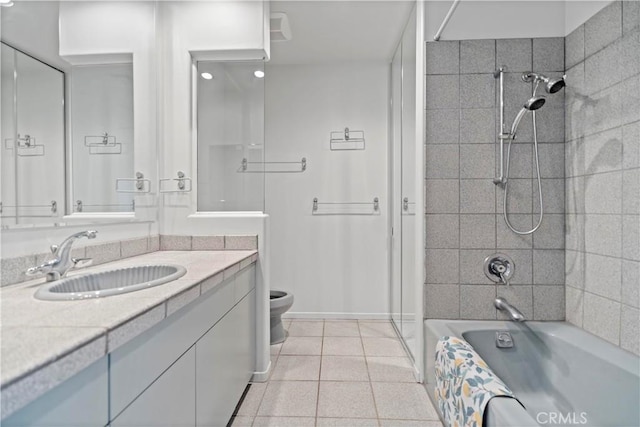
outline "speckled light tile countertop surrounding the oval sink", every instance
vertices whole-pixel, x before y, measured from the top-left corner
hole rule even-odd
[[[73,270],[69,276],[144,264],[187,273],[140,291],[80,301],[33,297],[44,278],[0,290],[0,387],[7,416],[159,323],[242,268],[257,252],[159,251]]]

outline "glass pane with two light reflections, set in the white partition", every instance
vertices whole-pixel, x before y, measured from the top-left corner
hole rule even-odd
[[[198,62],[197,119],[198,211],[264,211],[264,64]]]

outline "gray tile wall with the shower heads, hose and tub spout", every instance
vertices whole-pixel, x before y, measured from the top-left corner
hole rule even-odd
[[[562,320],[564,302],[564,91],[547,95],[539,110],[538,141],[545,217],[533,236],[518,236],[502,218],[498,81],[505,74],[505,123],[531,97],[525,71],[564,72],[564,39],[462,40],[426,45],[426,283],[427,318],[496,319],[493,300],[504,296],[528,319]],[[531,117],[511,150],[510,220],[530,229],[540,211]],[[510,287],[483,273],[485,257],[510,255]]]

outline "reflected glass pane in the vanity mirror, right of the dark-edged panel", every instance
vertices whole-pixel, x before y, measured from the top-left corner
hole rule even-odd
[[[133,64],[76,66],[70,80],[73,211],[134,212],[120,181],[134,170]]]

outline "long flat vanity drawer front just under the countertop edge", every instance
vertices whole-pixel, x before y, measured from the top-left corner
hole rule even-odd
[[[110,353],[111,416],[118,415],[234,305],[234,277]]]

